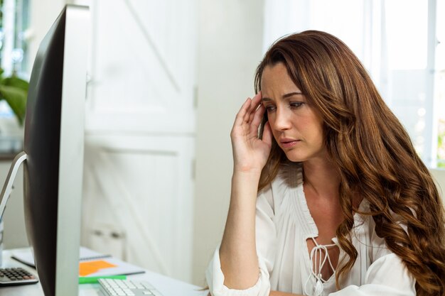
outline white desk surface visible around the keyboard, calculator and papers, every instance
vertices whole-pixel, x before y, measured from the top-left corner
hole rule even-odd
[[[3,252],[3,268],[23,267],[31,273],[36,274],[35,269],[24,265],[14,259],[11,259],[11,251]],[[149,281],[157,290],[163,293],[163,296],[206,296],[207,291],[201,291],[200,287],[168,278],[159,273],[153,273],[146,270],[146,273],[139,275],[129,275],[127,278],[132,280]],[[79,285],[79,296],[99,296],[99,284]],[[33,285],[18,285],[9,287],[0,287],[0,296],[43,296],[43,290],[40,283]]]

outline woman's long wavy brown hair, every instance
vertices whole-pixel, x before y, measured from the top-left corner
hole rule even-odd
[[[372,216],[377,235],[416,278],[417,295],[445,295],[444,206],[407,132],[365,67],[335,36],[304,31],[285,36],[269,48],[257,67],[257,92],[264,67],[278,62],[323,116],[328,155],[341,175],[339,195],[345,219],[336,235],[348,256],[339,264],[337,287],[358,256],[350,234],[353,214],[358,212],[353,195],[360,194],[370,203],[370,212],[362,214]],[[272,182],[286,161],[273,141],[259,189]]]

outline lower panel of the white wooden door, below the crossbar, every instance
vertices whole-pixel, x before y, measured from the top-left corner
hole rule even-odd
[[[91,243],[97,225],[114,225],[124,231],[122,259],[190,281],[193,138],[88,136],[87,143],[82,243]]]

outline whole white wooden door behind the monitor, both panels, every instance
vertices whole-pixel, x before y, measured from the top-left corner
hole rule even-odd
[[[82,243],[190,281],[195,1],[90,10]]]

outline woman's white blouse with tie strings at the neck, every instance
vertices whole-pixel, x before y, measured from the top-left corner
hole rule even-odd
[[[246,290],[229,289],[224,285],[219,248],[206,271],[213,296],[269,295],[270,290],[300,295],[330,296],[411,296],[416,295],[415,278],[402,260],[392,253],[385,241],[375,234],[371,216],[355,214],[352,243],[358,252],[353,268],[336,289],[336,274],[319,282],[312,273],[313,263],[306,239],[316,238],[313,221],[303,191],[301,167],[286,165],[269,187],[258,194],[256,243],[259,261],[257,283]],[[360,210],[369,209],[363,200]],[[338,245],[336,238],[333,243]],[[345,256],[340,248],[340,259]],[[341,260],[338,261],[339,264]]]

